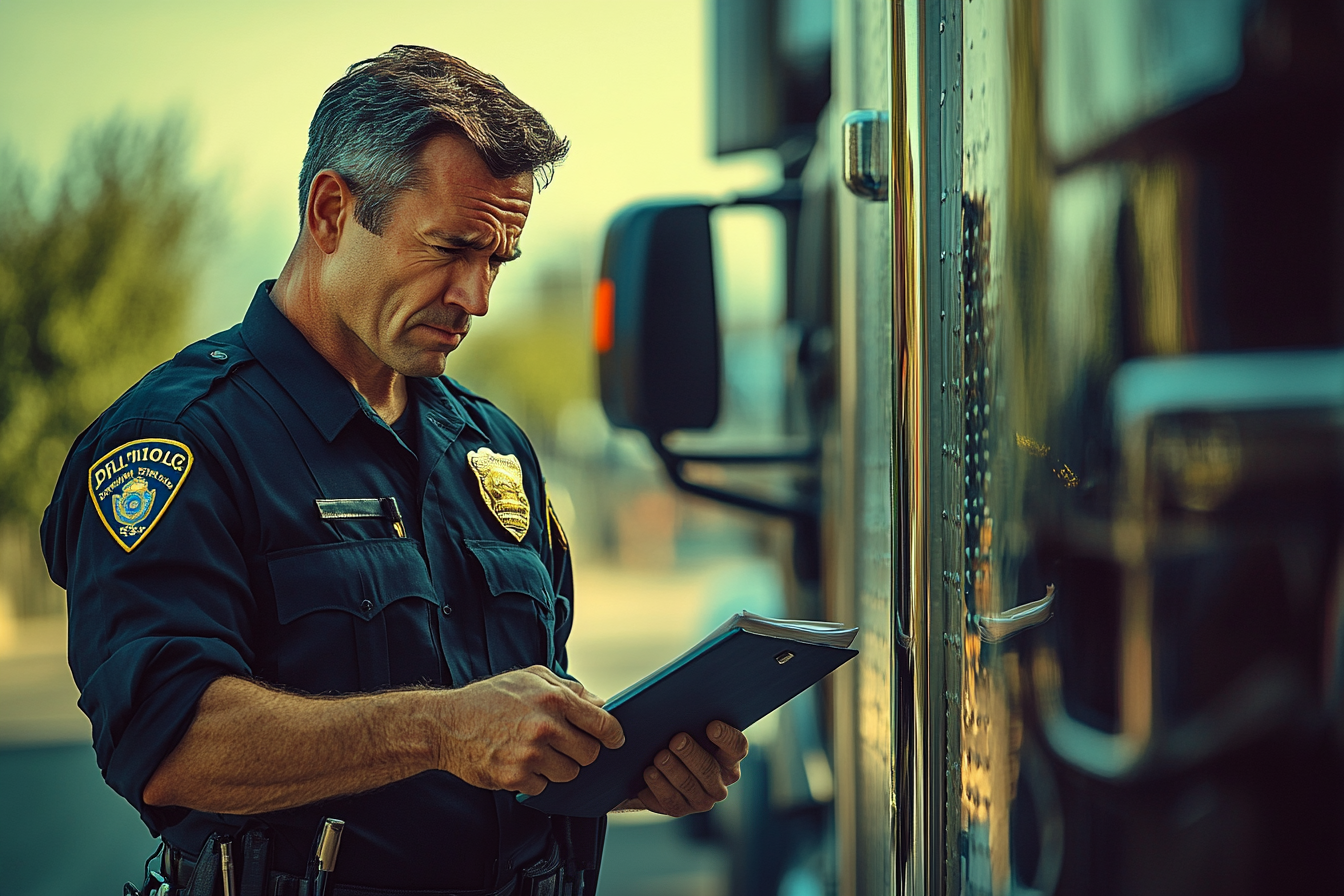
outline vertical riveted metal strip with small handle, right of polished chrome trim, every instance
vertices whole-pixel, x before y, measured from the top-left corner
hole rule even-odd
[[[949,827],[960,842],[960,892],[985,896],[1050,892],[1059,873],[1058,836],[1051,857],[1043,834],[1060,830],[1048,764],[1023,750],[1025,639],[1007,639],[1017,625],[1046,622],[1054,604],[1054,583],[1031,570],[1027,467],[1036,455],[1024,450],[1042,447],[1052,410],[1043,388],[1052,359],[1039,333],[1050,196],[1038,144],[1039,9],[961,5],[961,226],[948,262],[958,289],[939,318],[952,422],[942,465],[954,484],[941,562],[949,602],[961,609],[948,634],[960,661],[960,791]],[[1024,793],[1039,829],[1025,850],[1013,845]]]

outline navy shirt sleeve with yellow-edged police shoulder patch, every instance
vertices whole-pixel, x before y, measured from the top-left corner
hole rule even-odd
[[[172,470],[155,478],[163,465],[146,458],[137,469],[138,455],[128,455],[168,442],[190,458],[176,482]],[[185,733],[206,688],[251,673],[255,603],[220,453],[218,442],[177,423],[133,420],[86,437],[43,520],[52,578],[67,591],[70,668],[98,766],[155,834],[187,810],[145,805],[145,783]],[[106,486],[90,488],[109,457],[132,458],[129,474],[113,480],[124,481],[112,489],[121,490],[116,506]],[[140,497],[125,497],[132,492]],[[138,527],[124,528],[128,519]]]

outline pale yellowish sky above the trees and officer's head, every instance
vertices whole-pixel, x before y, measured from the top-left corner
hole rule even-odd
[[[195,168],[219,179],[228,222],[203,271],[191,336],[204,336],[241,316],[294,240],[298,165],[327,85],[395,43],[445,50],[573,142],[534,203],[527,258],[496,287],[492,316],[507,317],[509,293],[523,306],[542,266],[590,271],[622,204],[773,181],[763,156],[710,154],[706,20],[704,0],[0,0],[0,144],[46,171],[114,110],[184,110]]]

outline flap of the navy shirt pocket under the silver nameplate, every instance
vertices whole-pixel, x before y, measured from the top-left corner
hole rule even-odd
[[[281,625],[317,610],[372,619],[402,598],[435,602],[425,559],[410,539],[341,541],[267,557]]]

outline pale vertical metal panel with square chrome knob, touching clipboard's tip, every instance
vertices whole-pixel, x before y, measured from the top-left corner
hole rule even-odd
[[[862,107],[882,124],[880,161],[891,171],[891,32],[883,0],[836,5],[837,109]],[[870,128],[870,137],[876,132]],[[835,136],[840,136],[836,129]],[[868,148],[874,149],[868,142]],[[841,148],[847,153],[847,148]],[[828,595],[835,617],[859,625],[859,656],[835,676],[836,865],[843,896],[886,896],[895,838],[891,470],[891,204],[841,188],[845,156],[832,172],[836,208],[835,334],[837,420],[823,465]],[[884,188],[884,185],[883,185]],[[874,199],[876,196],[868,196]],[[875,259],[880,259],[875,262]]]

